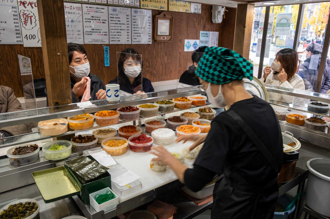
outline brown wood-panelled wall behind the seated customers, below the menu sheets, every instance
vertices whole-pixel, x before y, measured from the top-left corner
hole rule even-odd
[[[117,75],[116,52],[125,48],[135,48],[143,60],[143,77],[149,78],[151,82],[179,79],[183,73],[182,69],[191,65],[189,55],[183,55],[182,61],[178,63],[179,51],[184,50],[184,39],[199,39],[199,31],[219,32],[218,46],[233,49],[236,9],[228,8],[226,17],[221,24],[212,22],[212,6],[202,5],[202,14],[188,14],[180,12],[168,12],[174,16],[173,40],[170,42],[156,42],[152,44],[84,44],[87,57],[90,62],[91,73],[99,76],[104,84],[114,79]],[[152,10],[152,15],[160,14],[162,11]],[[153,19],[152,19],[153,22]],[[103,46],[109,46],[110,66],[104,66]],[[6,79],[1,85],[12,87],[17,96],[22,96],[17,54],[30,57],[34,78],[45,77],[42,61],[41,48],[27,48],[23,45],[0,45],[0,71],[6,74]],[[13,60],[13,61],[11,61]],[[186,63],[186,60],[189,63]],[[4,63],[4,65],[2,64]],[[178,70],[178,64],[182,66]],[[13,69],[9,74],[10,69]],[[15,81],[15,83],[14,83]]]

